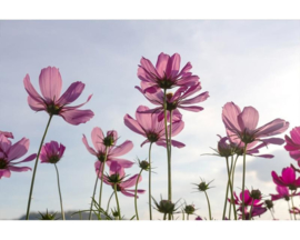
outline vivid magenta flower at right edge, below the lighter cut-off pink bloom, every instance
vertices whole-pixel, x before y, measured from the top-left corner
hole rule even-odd
[[[288,187],[290,190],[296,190],[300,187],[300,177],[296,179],[296,172],[292,168],[283,168],[281,172],[281,177],[272,171],[273,182],[280,187]]]

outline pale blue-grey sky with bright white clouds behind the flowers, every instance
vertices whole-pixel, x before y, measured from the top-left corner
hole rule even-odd
[[[91,156],[82,143],[84,133],[91,143],[91,131],[117,130],[118,143],[131,140],[134,148],[124,156],[134,161],[148,158],[149,146],[140,148],[143,137],[123,123],[124,114],[134,116],[140,106],[153,107],[134,89],[140,84],[137,69],[142,57],[153,63],[160,52],[181,56],[181,67],[192,63],[200,77],[202,91],[210,98],[201,112],[182,111],[184,129],[176,140],[186,148],[172,150],[173,200],[196,206],[197,214],[208,218],[204,194],[192,183],[200,178],[211,181],[208,191],[212,216],[221,219],[227,182],[226,161],[211,153],[218,137],[224,136],[222,107],[233,101],[240,108],[252,106],[260,114],[259,126],[276,118],[290,122],[288,133],[300,126],[300,21],[299,20],[77,20],[77,21],[0,21],[0,130],[14,134],[12,142],[30,139],[28,154],[38,151],[48,114],[34,112],[27,103],[23,78],[28,73],[40,92],[38,78],[42,68],[57,67],[63,81],[62,92],[74,81],[86,84],[73,103],[92,99],[82,108],[94,117],[84,124],[71,126],[54,117],[46,142],[56,140],[67,149],[58,163],[64,210],[89,209],[96,173]],[[283,137],[281,134],[280,137]],[[247,188],[259,188],[264,196],[274,193],[271,171],[294,163],[282,146],[270,146],[262,153],[273,159],[247,158]],[[167,198],[167,153],[153,146],[152,196]],[[33,168],[33,161],[23,166]],[[127,171],[138,173],[138,166]],[[0,219],[18,219],[26,213],[32,172],[12,172],[0,181]],[[236,171],[236,188],[241,189],[241,160]],[[148,173],[142,173],[141,189],[148,189]],[[112,189],[103,188],[103,202]],[[4,196],[4,197],[3,197]],[[98,196],[97,196],[98,198]],[[133,198],[119,196],[126,218],[134,214]],[[296,204],[300,200],[296,199]],[[114,207],[116,202],[111,202]],[[148,219],[148,193],[138,200],[140,219]],[[56,170],[51,164],[38,166],[31,211],[60,211]],[[153,210],[154,219],[162,216]],[[177,216],[179,219],[180,214]],[[176,217],[176,218],[177,218]],[[276,202],[276,217],[288,219],[287,203]],[[271,219],[266,213],[261,219]]]

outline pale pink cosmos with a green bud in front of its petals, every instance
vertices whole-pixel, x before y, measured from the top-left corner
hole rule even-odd
[[[108,148],[108,156],[107,156],[107,164],[110,166],[111,162],[117,161],[123,168],[131,168],[133,162],[120,159],[118,157],[128,153],[132,148],[133,143],[129,140],[124,141],[122,144],[117,146],[118,141],[118,132],[112,130],[108,131],[107,136],[104,137],[102,130],[98,127],[92,129],[91,139],[93,143],[93,148],[91,148],[88,143],[86,136],[83,134],[82,142],[88,149],[88,151],[96,156],[99,161],[96,162],[96,169],[99,169],[101,162],[104,161],[106,157],[106,148]]]

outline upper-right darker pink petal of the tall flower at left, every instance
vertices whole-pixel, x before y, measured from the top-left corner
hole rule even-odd
[[[66,104],[73,102],[74,100],[77,100],[79,98],[79,96],[81,94],[83,89],[84,89],[84,83],[82,83],[80,81],[73,82],[66,90],[66,92],[57,100],[57,103],[60,106],[66,106]],[[89,97],[89,99],[90,99],[90,97]]]

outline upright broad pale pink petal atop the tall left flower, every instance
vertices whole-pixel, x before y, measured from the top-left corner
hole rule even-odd
[[[62,80],[59,69],[48,67],[41,70],[39,77],[40,90],[47,102],[58,100],[60,97]]]

